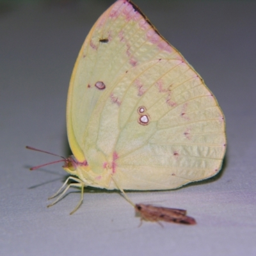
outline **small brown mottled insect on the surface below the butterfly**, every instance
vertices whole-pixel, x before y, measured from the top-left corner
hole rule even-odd
[[[167,221],[180,224],[194,225],[194,218],[186,216],[187,211],[166,207],[157,207],[150,204],[136,204],[135,211],[146,221]]]

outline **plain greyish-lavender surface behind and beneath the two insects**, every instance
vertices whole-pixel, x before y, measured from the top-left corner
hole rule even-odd
[[[116,192],[70,190],[68,83],[85,36],[108,1],[0,4],[0,255],[256,255],[256,3],[136,1],[216,95],[227,120],[225,166],[216,179],[174,191],[128,193],[133,202],[187,209],[197,225],[146,223]],[[63,3],[67,4],[63,4]]]

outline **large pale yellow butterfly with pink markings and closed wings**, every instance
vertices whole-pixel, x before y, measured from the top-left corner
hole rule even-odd
[[[79,205],[84,186],[174,189],[207,179],[226,149],[215,97],[127,0],[110,6],[84,41],[68,90],[67,132],[74,158],[63,168],[77,178],[63,187],[77,183],[63,193],[81,188]]]

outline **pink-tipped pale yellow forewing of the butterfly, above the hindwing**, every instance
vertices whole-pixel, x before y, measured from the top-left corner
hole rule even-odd
[[[100,42],[102,38],[108,42]],[[95,118],[93,109],[104,100],[95,83],[103,81],[109,92],[130,68],[167,57],[181,58],[129,1],[116,1],[97,20],[79,52],[68,92],[68,138],[84,147],[84,131],[90,118]],[[76,151],[74,140],[69,140],[70,147]]]

